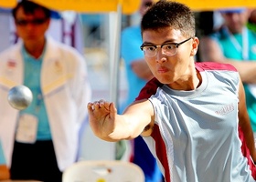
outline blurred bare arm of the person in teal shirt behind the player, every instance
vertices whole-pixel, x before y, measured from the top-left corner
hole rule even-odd
[[[199,52],[202,61],[228,63],[236,67],[243,83],[256,84],[256,61],[241,62],[226,58],[222,54],[218,43],[210,37],[203,37],[201,39]]]

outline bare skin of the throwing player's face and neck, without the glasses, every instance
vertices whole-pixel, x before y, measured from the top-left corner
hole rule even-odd
[[[186,40],[179,30],[166,27],[159,31],[146,30],[143,33],[144,44],[163,45],[166,42],[179,43]],[[195,69],[194,56],[197,53],[197,37],[177,48],[176,55],[165,56],[157,49],[154,57],[144,56],[153,75],[163,84],[176,90],[193,90],[200,84],[200,76]]]

